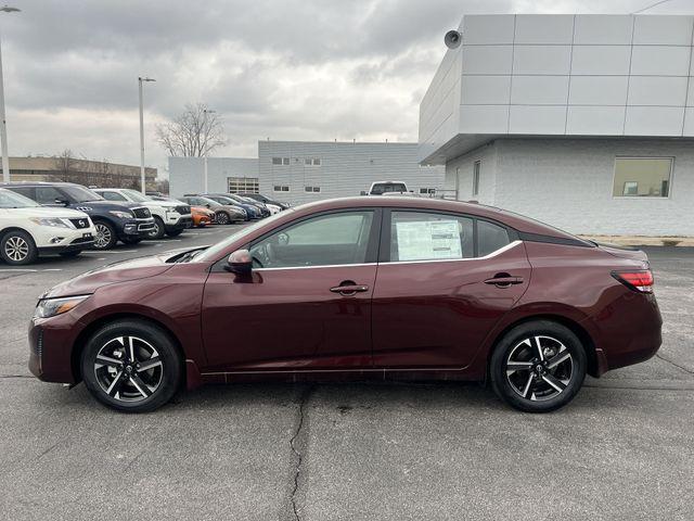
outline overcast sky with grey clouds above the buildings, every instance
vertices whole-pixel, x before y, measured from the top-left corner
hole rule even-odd
[[[229,147],[259,139],[416,141],[419,104],[465,13],[629,13],[656,0],[8,0],[0,13],[10,155],[139,164],[157,122],[204,102]],[[650,13],[693,13],[672,0]]]

